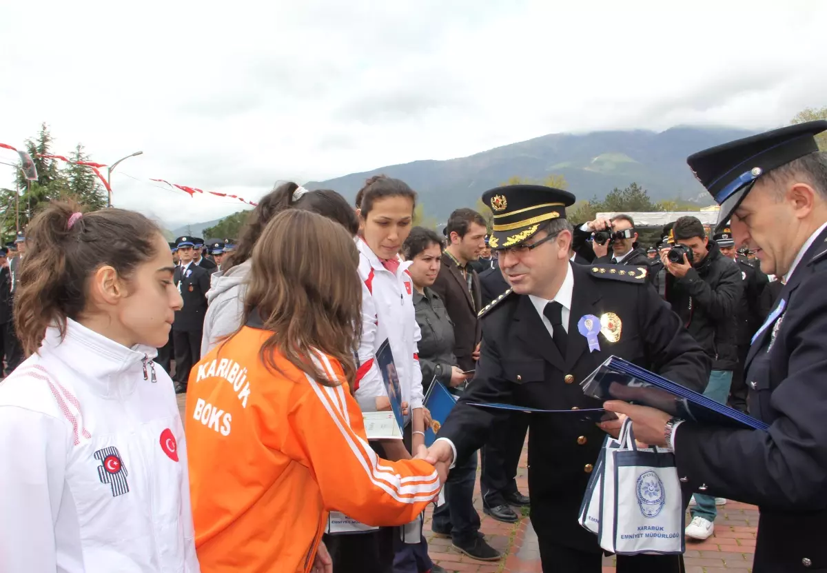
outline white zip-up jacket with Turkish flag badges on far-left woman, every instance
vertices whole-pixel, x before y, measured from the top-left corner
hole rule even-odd
[[[68,323],[0,383],[0,571],[198,573],[172,380]]]

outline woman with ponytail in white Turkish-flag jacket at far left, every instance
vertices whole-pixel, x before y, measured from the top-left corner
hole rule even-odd
[[[15,293],[28,359],[0,384],[0,571],[197,573],[184,427],[155,368],[181,307],[160,229],[52,204]]]

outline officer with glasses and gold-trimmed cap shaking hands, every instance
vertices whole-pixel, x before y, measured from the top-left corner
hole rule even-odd
[[[569,260],[574,195],[540,185],[485,192],[494,211],[490,246],[512,289],[480,311],[476,376],[442,424],[428,461],[441,472],[485,443],[504,402],[557,410],[530,414],[528,489],[531,522],[545,571],[598,573],[597,537],[577,523],[604,431],[620,421],[586,419],[600,407],[580,382],[612,354],[702,391],[710,359],[646,283],[646,267],[578,265]],[[686,497],[688,502],[688,496]],[[681,571],[680,556],[618,556],[618,571]]]

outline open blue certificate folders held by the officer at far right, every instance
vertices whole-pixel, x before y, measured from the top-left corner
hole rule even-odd
[[[586,396],[598,400],[623,400],[650,406],[684,420],[712,426],[766,430],[767,424],[719,404],[645,368],[610,356],[581,383]]]

